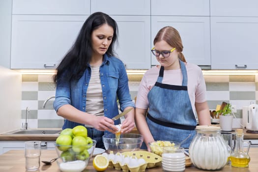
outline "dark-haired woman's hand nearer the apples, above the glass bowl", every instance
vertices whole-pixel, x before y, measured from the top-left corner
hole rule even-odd
[[[114,125],[114,121],[105,116],[94,116],[94,119],[91,124],[95,129],[100,131],[109,131],[115,133],[118,129]]]

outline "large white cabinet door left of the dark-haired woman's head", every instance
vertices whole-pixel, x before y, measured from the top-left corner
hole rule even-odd
[[[55,68],[87,16],[13,15],[12,69]]]

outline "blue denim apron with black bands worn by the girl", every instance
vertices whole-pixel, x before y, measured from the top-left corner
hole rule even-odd
[[[196,118],[187,91],[187,71],[179,60],[183,76],[182,86],[162,84],[164,66],[161,66],[155,86],[148,93],[149,110],[146,117],[155,141],[181,142],[191,137],[182,147],[188,148],[196,135]],[[144,148],[143,144],[143,148]]]

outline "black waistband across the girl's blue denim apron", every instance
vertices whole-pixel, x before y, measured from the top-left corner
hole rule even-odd
[[[177,129],[181,129],[181,130],[195,130],[195,128],[196,128],[195,125],[181,125],[181,124],[175,124],[175,123],[171,123],[171,122],[165,122],[165,121],[162,121],[162,120],[152,117],[149,113],[147,114],[147,117],[152,122],[155,122],[159,125],[166,126],[166,127],[177,128]]]

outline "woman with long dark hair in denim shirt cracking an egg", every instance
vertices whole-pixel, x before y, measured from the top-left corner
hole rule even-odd
[[[115,133],[120,120],[111,119],[120,110],[135,108],[124,64],[114,56],[117,24],[109,15],[96,12],[84,23],[79,35],[57,67],[54,108],[65,118],[63,129],[87,127],[88,136],[104,148],[102,136]],[[125,115],[121,133],[134,128],[134,110]]]

